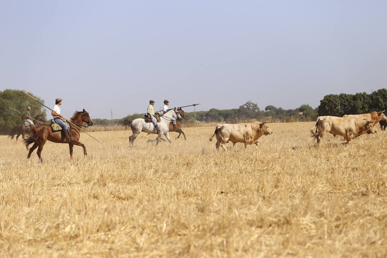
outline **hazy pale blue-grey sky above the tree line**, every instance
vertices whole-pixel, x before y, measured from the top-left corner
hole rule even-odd
[[[386,87],[387,1],[0,0],[0,91],[92,118],[310,104]],[[186,112],[193,111],[186,108]]]

